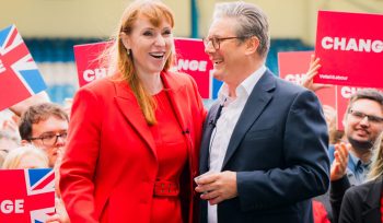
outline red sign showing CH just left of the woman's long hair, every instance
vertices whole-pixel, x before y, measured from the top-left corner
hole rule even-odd
[[[112,44],[102,42],[74,46],[76,66],[80,87],[96,79],[106,77],[107,69],[100,64],[98,56]]]

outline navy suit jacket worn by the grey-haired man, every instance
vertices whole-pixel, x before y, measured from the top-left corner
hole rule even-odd
[[[211,121],[205,122],[200,174],[208,171]],[[310,223],[311,198],[329,184],[327,127],[315,94],[266,71],[230,139],[222,172],[236,172],[239,196],[218,204],[219,223]],[[201,222],[207,202],[201,203]]]

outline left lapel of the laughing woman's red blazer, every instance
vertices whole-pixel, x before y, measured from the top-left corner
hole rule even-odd
[[[135,94],[125,81],[116,82],[115,86],[117,107],[156,157],[155,142],[152,132],[150,131],[150,127],[144,119]]]

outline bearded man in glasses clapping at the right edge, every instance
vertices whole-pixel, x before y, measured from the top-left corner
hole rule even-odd
[[[369,173],[373,145],[383,131],[382,92],[364,89],[351,95],[344,126],[349,143],[329,146],[332,162],[329,200],[334,222],[338,222],[345,191],[351,186],[363,184]]]

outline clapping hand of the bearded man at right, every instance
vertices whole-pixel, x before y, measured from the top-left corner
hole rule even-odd
[[[350,150],[350,144],[346,144],[344,142],[335,144],[335,160],[333,161],[329,174],[329,179],[332,181],[338,180],[346,175],[348,164],[348,151]]]

